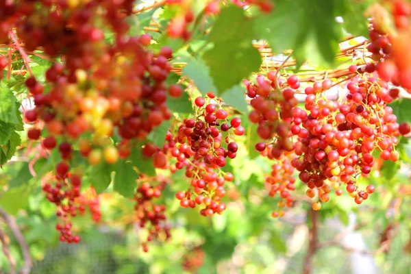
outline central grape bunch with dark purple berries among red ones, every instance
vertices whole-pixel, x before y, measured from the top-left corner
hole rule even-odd
[[[212,216],[225,210],[225,203],[221,203],[226,194],[224,184],[232,182],[234,177],[220,168],[225,166],[226,158],[236,157],[238,145],[233,135],[241,136],[245,129],[238,117],[227,120],[228,114],[221,108],[221,101],[212,93],[206,98],[197,97],[194,102],[196,116],[179,125],[174,142],[179,147],[170,151],[171,156],[177,159],[175,169],[186,166],[185,174],[193,189],[177,192],[176,197],[183,208],[203,204],[205,208],[200,214]]]

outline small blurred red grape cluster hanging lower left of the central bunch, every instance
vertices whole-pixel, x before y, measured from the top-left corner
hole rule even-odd
[[[136,206],[134,210],[136,217],[140,221],[140,227],[146,227],[149,230],[147,242],[151,242],[153,238],[159,238],[164,235],[164,239],[168,240],[171,237],[170,227],[166,225],[166,215],[164,211],[166,206],[153,203],[153,199],[160,197],[161,191],[166,186],[166,182],[160,178],[160,184],[153,186],[149,182],[153,182],[159,178],[150,178],[142,175],[139,179],[139,184],[134,200]],[[147,242],[142,243],[143,251],[149,251]]]

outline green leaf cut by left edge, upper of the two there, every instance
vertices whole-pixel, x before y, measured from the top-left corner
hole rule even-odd
[[[12,90],[5,83],[0,85],[0,121],[21,125],[21,113]]]

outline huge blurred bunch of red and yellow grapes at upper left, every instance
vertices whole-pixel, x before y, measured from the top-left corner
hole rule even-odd
[[[179,85],[165,83],[172,51],[164,47],[153,53],[145,48],[151,36],[127,34],[125,16],[132,14],[132,0],[2,1],[0,5],[1,42],[9,43],[9,36],[14,44],[18,40],[15,46],[23,59],[24,51],[41,49],[61,60],[53,61],[45,81],[31,75],[25,82],[35,103],[24,113],[25,122],[33,125],[27,136],[41,139],[47,151],[58,149],[62,159],[55,166],[53,183],[43,186],[47,198],[58,206],[59,216],[75,216],[88,206],[99,220],[98,199],[76,206],[76,199],[84,199],[81,177],[69,177],[69,170],[76,168],[74,155],[78,149],[91,165],[115,164],[170,119],[166,99],[183,92]],[[105,37],[107,31],[113,34],[111,41]],[[0,69],[7,65],[1,58]],[[120,141],[113,142],[113,136]],[[163,160],[161,156],[153,156],[154,164]],[[59,226],[60,240],[78,242],[70,229],[71,223]]]

